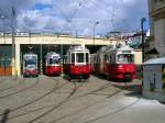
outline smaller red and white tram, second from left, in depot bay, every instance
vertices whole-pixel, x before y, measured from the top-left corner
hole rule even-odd
[[[45,68],[44,72],[46,75],[61,75],[62,74],[62,64],[61,64],[61,56],[55,52],[50,52],[45,56]]]

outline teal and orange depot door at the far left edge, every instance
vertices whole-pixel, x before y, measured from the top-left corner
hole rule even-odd
[[[11,76],[11,45],[0,46],[0,76]]]

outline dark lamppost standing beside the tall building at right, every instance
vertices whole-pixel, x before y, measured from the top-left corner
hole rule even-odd
[[[144,22],[146,21],[145,18],[141,19],[141,33],[142,33],[142,62],[144,63]]]

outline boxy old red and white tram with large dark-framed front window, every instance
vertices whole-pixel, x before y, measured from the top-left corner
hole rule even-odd
[[[81,46],[72,46],[67,52],[63,70],[70,79],[88,79],[89,64],[89,51]]]

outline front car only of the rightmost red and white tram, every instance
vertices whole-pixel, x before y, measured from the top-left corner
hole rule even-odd
[[[110,78],[135,78],[134,51],[130,46],[108,49],[105,54],[105,74]]]

